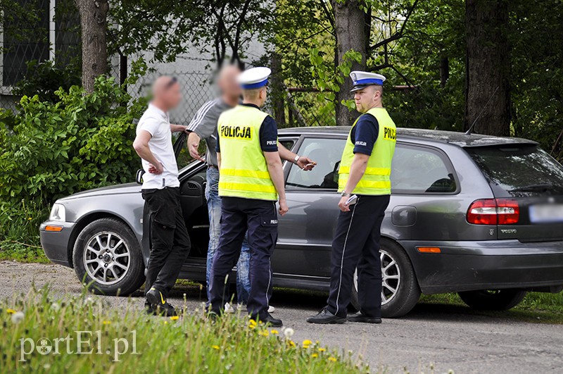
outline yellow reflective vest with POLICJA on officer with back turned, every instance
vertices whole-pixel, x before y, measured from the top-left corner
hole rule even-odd
[[[220,197],[277,201],[276,187],[260,147],[260,127],[267,116],[258,108],[239,105],[219,117]]]

